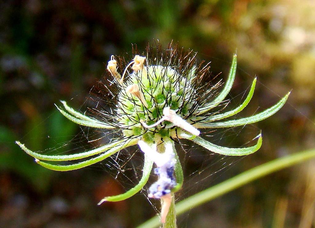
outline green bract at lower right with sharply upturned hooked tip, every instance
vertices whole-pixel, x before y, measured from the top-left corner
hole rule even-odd
[[[192,135],[189,135],[186,133],[181,133],[180,136],[182,138],[185,138],[185,139],[188,139],[188,140],[191,140],[191,141],[197,143],[198,145],[206,148],[209,151],[212,151],[214,153],[220,153],[220,154],[227,155],[227,156],[249,155],[249,154],[254,153],[257,150],[259,150],[259,148],[261,147],[261,144],[262,144],[261,134],[259,134],[257,136],[258,140],[257,140],[256,145],[254,145],[252,147],[243,147],[243,148],[229,148],[229,147],[218,146],[218,145],[215,145],[211,142],[204,140],[203,138],[201,138],[199,136],[192,139]]]

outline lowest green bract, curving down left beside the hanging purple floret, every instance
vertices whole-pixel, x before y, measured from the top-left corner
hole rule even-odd
[[[139,192],[143,188],[143,186],[145,186],[146,182],[149,180],[152,167],[153,167],[153,161],[145,154],[143,174],[139,183],[135,187],[131,188],[130,190],[128,190],[127,192],[123,194],[119,194],[117,196],[108,196],[108,197],[103,198],[97,205],[100,205],[101,203],[106,202],[106,201],[109,201],[109,202],[122,201],[135,195],[137,192]]]

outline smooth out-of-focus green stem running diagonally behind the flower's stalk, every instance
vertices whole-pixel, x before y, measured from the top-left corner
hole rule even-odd
[[[278,170],[287,168],[303,161],[307,161],[312,158],[315,158],[315,148],[288,155],[282,158],[277,158],[265,164],[261,164],[226,181],[223,181],[220,184],[212,186],[202,192],[199,192],[191,197],[180,201],[176,204],[176,212],[178,215],[183,214],[190,209],[193,209],[216,197],[222,196],[227,192],[231,192],[232,190],[243,186],[251,181],[254,181],[260,177],[266,176]],[[150,220],[147,220],[145,223],[141,224],[138,228],[153,228],[158,226],[158,218],[153,217]]]

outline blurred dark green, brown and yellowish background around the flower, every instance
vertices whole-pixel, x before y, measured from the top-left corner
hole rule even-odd
[[[216,141],[242,146],[259,128],[263,146],[255,154],[231,159],[185,146],[180,153],[188,155],[180,158],[186,179],[179,200],[258,164],[315,147],[314,12],[312,0],[2,1],[0,227],[135,227],[156,215],[158,202],[153,207],[146,191],[123,202],[96,205],[104,196],[132,187],[139,180],[132,170],[125,174],[131,180],[127,185],[115,179],[114,166],[108,168],[106,162],[50,171],[14,143],[20,140],[34,151],[76,151],[71,142],[85,131],[58,113],[54,103],[64,99],[84,111],[110,56],[130,56],[131,44],[144,51],[153,39],[163,47],[173,40],[197,51],[198,59],[211,61],[212,75],[222,72],[218,78],[224,80],[237,51],[232,108],[258,76],[242,117],[270,107],[292,89],[277,114],[244,131],[230,129],[238,136],[233,142],[229,137]],[[79,143],[79,149],[88,144]],[[136,156],[141,167],[141,154]],[[210,166],[219,158],[226,164]],[[178,225],[315,227],[314,174],[315,161],[282,170],[190,210]]]

